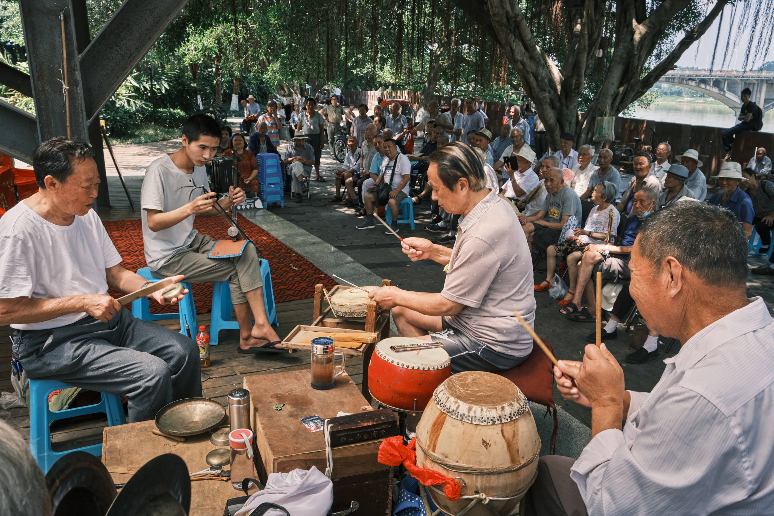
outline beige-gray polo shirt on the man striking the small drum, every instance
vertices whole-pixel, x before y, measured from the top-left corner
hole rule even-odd
[[[519,218],[491,191],[460,223],[440,295],[464,305],[444,322],[499,353],[526,357],[533,339],[513,316],[535,321],[532,259]]]

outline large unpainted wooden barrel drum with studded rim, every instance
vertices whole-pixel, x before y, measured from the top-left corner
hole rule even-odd
[[[458,501],[448,501],[438,486],[428,487],[447,514],[457,514],[480,493],[489,497],[488,508],[476,504],[470,516],[518,514],[537,476],[539,453],[525,396],[498,374],[454,374],[433,393],[416,425],[416,465],[464,480]]]

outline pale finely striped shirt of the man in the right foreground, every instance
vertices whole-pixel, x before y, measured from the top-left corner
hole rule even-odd
[[[632,392],[623,431],[599,432],[570,472],[588,514],[774,514],[772,335],[752,298]]]

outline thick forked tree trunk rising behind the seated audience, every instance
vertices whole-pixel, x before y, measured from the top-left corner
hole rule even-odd
[[[674,50],[643,77],[643,70],[656,50],[664,30],[675,15],[691,0],[666,0],[649,16],[632,0],[615,4],[615,47],[604,82],[580,115],[578,97],[584,91],[587,73],[594,70],[602,35],[604,0],[586,0],[584,9],[571,11],[571,34],[562,70],[537,46],[528,21],[515,0],[454,0],[455,5],[494,37],[508,62],[519,74],[522,87],[535,103],[540,120],[546,126],[551,149],[559,146],[562,132],[575,136],[576,146],[591,138],[594,118],[609,107],[619,114],[642,97],[666,71],[670,70],[688,47],[707,31],[729,2],[718,0],[706,17],[686,32]],[[491,20],[498,20],[492,23]]]

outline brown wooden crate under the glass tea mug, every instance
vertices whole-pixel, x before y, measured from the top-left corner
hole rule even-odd
[[[325,439],[323,432],[309,432],[300,419],[319,415],[332,418],[338,412],[351,414],[372,410],[348,374],[335,378],[334,388],[317,391],[310,385],[309,366],[296,371],[246,376],[244,387],[250,391],[251,425],[255,432],[262,471],[287,473],[311,466],[324,472]],[[275,410],[277,404],[285,404]],[[351,477],[389,469],[376,460],[383,439],[374,439],[333,449],[334,477]],[[256,454],[256,457],[258,455]]]

